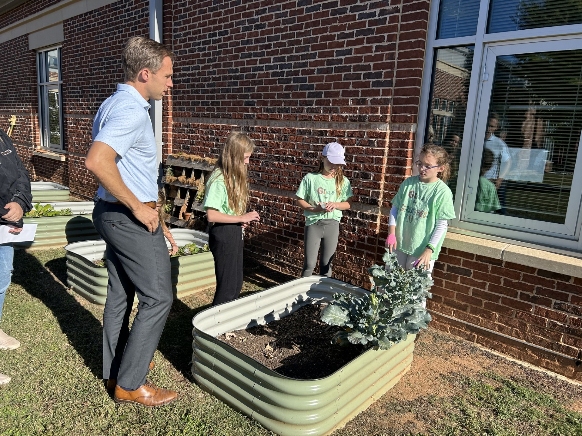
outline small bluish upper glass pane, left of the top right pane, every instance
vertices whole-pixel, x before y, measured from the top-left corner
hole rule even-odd
[[[441,0],[437,40],[471,36],[477,32],[480,0]]]

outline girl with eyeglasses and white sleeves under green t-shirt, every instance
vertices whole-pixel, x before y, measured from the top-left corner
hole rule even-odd
[[[435,144],[424,144],[415,163],[418,176],[402,182],[392,199],[386,248],[405,269],[424,268],[432,273],[445,240],[447,220],[455,218],[449,155]]]

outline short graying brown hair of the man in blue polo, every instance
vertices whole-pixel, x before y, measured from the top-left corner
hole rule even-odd
[[[145,37],[129,38],[121,55],[125,80],[135,81],[137,74],[145,68],[157,73],[166,57],[172,59],[172,62],[176,57],[167,45]]]

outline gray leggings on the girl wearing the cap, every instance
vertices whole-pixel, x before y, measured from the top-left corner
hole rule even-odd
[[[311,276],[321,246],[320,275],[331,277],[331,262],[338,246],[339,221],[319,220],[305,226],[305,260],[301,277]],[[323,242],[323,244],[321,244]]]

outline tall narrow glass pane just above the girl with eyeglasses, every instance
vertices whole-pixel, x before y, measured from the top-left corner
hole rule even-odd
[[[435,52],[436,62],[431,84],[431,112],[427,117],[428,126],[424,141],[442,145],[448,151],[451,160],[448,184],[450,190],[453,191],[453,196],[459,176],[459,159],[467,113],[473,51],[474,47],[471,45],[441,48]],[[446,101],[449,99],[455,102],[454,112],[452,102],[450,110],[446,110]]]

